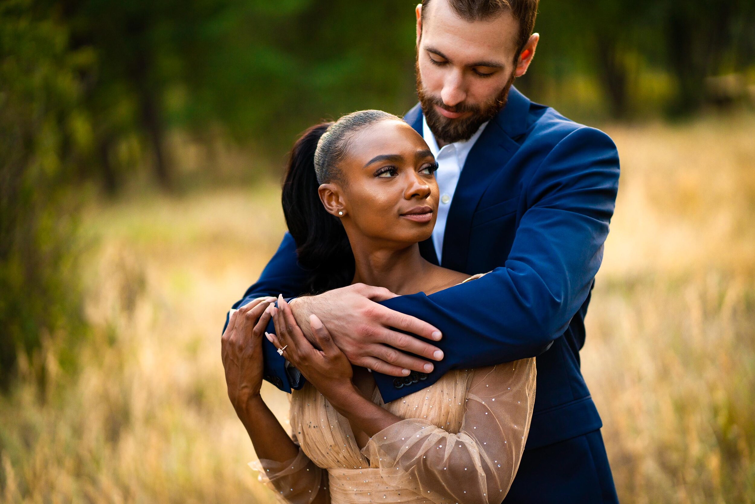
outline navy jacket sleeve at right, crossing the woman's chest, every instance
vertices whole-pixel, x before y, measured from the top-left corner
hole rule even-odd
[[[526,210],[501,267],[429,296],[383,301],[443,333],[436,345],[445,358],[427,382],[451,368],[535,357],[565,332],[600,266],[618,175],[618,153],[607,135],[572,131],[525,181]],[[393,377],[375,378],[384,400],[401,395]]]

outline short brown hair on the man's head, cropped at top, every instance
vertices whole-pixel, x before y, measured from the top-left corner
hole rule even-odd
[[[516,42],[516,55],[522,52],[525,44],[535,29],[535,17],[538,15],[539,0],[434,0],[448,2],[451,9],[465,21],[484,21],[510,11],[515,20],[519,21],[519,34]],[[422,0],[422,20],[430,0]]]

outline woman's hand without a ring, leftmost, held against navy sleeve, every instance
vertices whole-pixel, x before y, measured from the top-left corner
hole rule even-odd
[[[272,297],[257,298],[234,311],[220,339],[228,397],[239,418],[245,414],[248,404],[260,395],[263,373],[260,342],[270,321],[266,308],[273,301]]]

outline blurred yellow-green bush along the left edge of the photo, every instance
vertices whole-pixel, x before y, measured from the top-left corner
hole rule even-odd
[[[91,62],[31,2],[0,4],[0,386],[80,335],[69,181],[88,127],[76,74]],[[64,330],[65,329],[65,330]],[[63,352],[63,360],[70,354]],[[43,369],[43,366],[35,366]]]

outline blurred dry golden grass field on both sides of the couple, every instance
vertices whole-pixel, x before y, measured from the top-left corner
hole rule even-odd
[[[581,355],[621,502],[755,502],[755,116],[606,130],[621,189]],[[75,376],[50,359],[0,399],[2,502],[273,502],[220,329],[282,235],[278,191],[87,212],[94,330]]]

